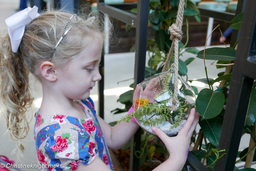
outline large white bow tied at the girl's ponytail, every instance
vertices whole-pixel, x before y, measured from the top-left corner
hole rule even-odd
[[[29,25],[34,18],[40,15],[37,11],[38,7],[36,6],[33,8],[28,7],[5,20],[5,23],[9,27],[8,33],[11,39],[12,52],[16,53],[18,51],[25,26]]]

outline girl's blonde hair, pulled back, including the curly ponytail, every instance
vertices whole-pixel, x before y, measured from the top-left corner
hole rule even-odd
[[[26,107],[30,107],[33,102],[29,87],[29,72],[39,80],[42,79],[39,66],[42,62],[49,61],[71,16],[72,14],[61,11],[42,13],[25,28],[17,53],[12,52],[8,34],[0,38],[1,102],[6,108],[10,137],[21,152],[24,152],[25,148],[20,140],[25,138],[29,131]],[[80,15],[78,23],[68,31],[57,46],[51,62],[57,67],[64,66],[93,39],[99,39],[103,43],[105,32],[109,30],[103,31],[102,18],[103,15],[100,13]],[[75,19],[71,20],[69,25],[74,23]]]

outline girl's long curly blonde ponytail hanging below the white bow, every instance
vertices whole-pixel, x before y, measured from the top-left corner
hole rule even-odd
[[[31,106],[33,98],[30,95],[29,70],[20,52],[12,52],[8,34],[0,39],[0,58],[0,95],[1,102],[6,107],[7,127],[18,150],[24,152],[21,139],[25,138],[29,132],[25,112],[26,107]]]

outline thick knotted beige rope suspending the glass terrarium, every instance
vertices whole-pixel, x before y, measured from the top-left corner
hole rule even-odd
[[[170,104],[172,104],[173,106],[169,108],[171,110],[177,110],[180,104],[180,102],[178,101],[178,42],[182,39],[181,26],[183,23],[184,5],[185,0],[180,0],[176,23],[172,24],[172,26],[169,27],[171,35],[170,39],[173,42],[162,70],[162,72],[166,71],[166,68],[170,62],[170,58],[172,57],[172,53],[174,50],[174,97],[173,99],[169,100]]]

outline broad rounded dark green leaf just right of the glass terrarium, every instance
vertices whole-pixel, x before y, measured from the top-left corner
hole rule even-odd
[[[225,97],[221,91],[204,88],[197,96],[196,110],[202,119],[211,119],[221,112],[224,101]]]

